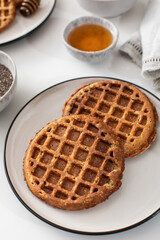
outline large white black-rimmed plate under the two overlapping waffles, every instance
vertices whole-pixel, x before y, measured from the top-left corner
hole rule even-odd
[[[104,78],[103,78],[104,79]],[[121,188],[96,207],[82,211],[52,208],[36,198],[23,177],[23,158],[30,139],[46,123],[60,118],[64,102],[84,84],[98,77],[69,80],[31,99],[12,122],[5,143],[5,168],[10,185],[27,209],[43,221],[64,230],[85,234],[123,231],[150,219],[160,208],[160,129],[156,141],[143,154],[126,160]],[[140,88],[141,89],[141,88]],[[160,100],[141,89],[153,101],[160,116]]]

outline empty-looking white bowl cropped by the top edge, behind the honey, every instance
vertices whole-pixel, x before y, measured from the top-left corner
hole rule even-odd
[[[85,10],[102,17],[116,17],[127,12],[137,0],[77,0]]]

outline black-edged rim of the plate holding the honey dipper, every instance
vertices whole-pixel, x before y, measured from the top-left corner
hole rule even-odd
[[[55,6],[56,6],[56,1],[57,1],[57,0],[54,1],[53,7],[52,7],[52,9],[50,10],[50,12],[49,12],[49,14],[47,15],[47,17],[46,17],[40,24],[38,24],[35,28],[33,28],[33,29],[30,30],[29,32],[23,34],[22,36],[19,36],[19,37],[16,37],[16,38],[14,38],[14,39],[8,40],[8,41],[6,41],[6,42],[0,43],[0,46],[5,45],[5,44],[9,44],[9,43],[12,43],[12,42],[15,42],[16,40],[19,40],[19,39],[22,39],[22,38],[26,37],[27,35],[33,33],[35,30],[37,30],[37,28],[39,28],[39,27],[49,18],[49,16],[52,14],[52,12],[53,12],[53,10],[54,10],[54,8],[55,8]]]

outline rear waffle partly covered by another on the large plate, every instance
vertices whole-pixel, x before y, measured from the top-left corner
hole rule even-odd
[[[70,114],[102,119],[118,135],[126,158],[142,153],[156,136],[155,107],[138,88],[123,81],[108,79],[78,89],[64,105],[63,116]]]

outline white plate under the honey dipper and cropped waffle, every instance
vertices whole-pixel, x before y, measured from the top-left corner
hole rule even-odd
[[[56,0],[41,0],[39,9],[29,17],[23,17],[17,9],[12,24],[0,33],[0,45],[22,38],[39,27],[52,13]]]

